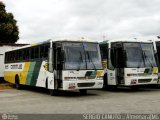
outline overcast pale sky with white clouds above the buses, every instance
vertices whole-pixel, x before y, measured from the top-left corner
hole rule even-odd
[[[55,37],[96,41],[160,35],[160,0],[2,0],[19,26],[18,43]]]

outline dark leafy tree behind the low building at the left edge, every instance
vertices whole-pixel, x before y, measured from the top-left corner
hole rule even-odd
[[[5,4],[0,2],[0,43],[15,43],[19,39],[19,30],[12,13],[7,13]]]

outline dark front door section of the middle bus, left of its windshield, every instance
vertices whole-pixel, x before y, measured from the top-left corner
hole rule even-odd
[[[125,52],[122,43],[113,43],[108,51],[108,82],[111,85],[124,84]]]

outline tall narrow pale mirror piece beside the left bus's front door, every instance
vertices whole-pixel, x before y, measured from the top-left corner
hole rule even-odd
[[[49,48],[49,66],[48,66],[48,71],[53,72],[53,48]]]

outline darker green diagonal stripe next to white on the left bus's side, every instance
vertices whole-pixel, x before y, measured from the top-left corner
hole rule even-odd
[[[42,65],[42,61],[37,61],[34,66],[33,75],[32,75],[31,82],[30,82],[31,86],[36,86],[41,65]]]

